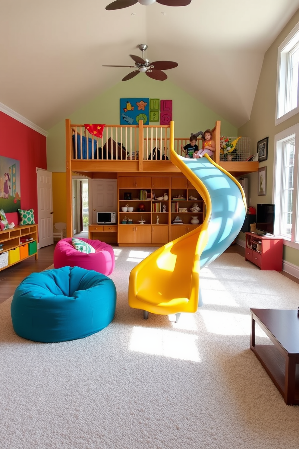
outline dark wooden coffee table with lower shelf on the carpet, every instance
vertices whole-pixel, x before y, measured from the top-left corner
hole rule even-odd
[[[287,405],[299,405],[299,317],[297,310],[250,309],[250,349]],[[272,344],[256,344],[256,323]]]

